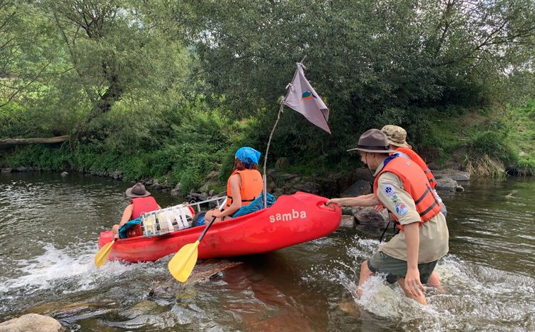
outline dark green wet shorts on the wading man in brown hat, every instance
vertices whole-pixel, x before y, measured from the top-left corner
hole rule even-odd
[[[427,283],[429,281],[434,267],[437,266],[437,261],[418,264],[421,283]],[[374,273],[386,273],[387,281],[389,283],[395,283],[399,278],[404,278],[407,274],[407,261],[402,261],[401,259],[388,256],[382,251],[377,251],[374,256],[368,259],[368,268]]]

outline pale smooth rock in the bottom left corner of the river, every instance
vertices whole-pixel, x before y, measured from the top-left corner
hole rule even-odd
[[[28,313],[0,323],[0,332],[63,332],[66,331],[54,318]]]

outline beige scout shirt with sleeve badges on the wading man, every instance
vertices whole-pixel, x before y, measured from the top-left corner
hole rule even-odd
[[[398,156],[397,158],[403,157]],[[377,176],[383,167],[384,164],[381,164],[374,176]],[[421,220],[414,199],[407,191],[404,191],[402,181],[394,173],[382,173],[377,184],[379,201],[398,218],[399,223],[407,225]],[[419,237],[418,263],[430,263],[446,255],[449,251],[449,232],[444,214],[440,212],[420,226]],[[384,243],[379,251],[407,261],[405,233],[402,231],[397,233],[390,241]]]

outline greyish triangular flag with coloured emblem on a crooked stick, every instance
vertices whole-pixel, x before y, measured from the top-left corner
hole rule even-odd
[[[320,96],[316,94],[314,88],[308,83],[303,72],[302,64],[297,63],[295,78],[288,86],[290,90],[282,101],[282,104],[304,115],[312,124],[331,134],[327,125],[329,109],[327,109]]]

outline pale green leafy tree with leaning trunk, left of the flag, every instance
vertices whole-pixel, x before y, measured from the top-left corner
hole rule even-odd
[[[42,10],[50,13],[74,69],[58,81],[61,97],[71,107],[91,105],[78,136],[89,134],[118,101],[161,95],[184,76],[183,48],[147,21],[150,8],[142,1],[54,0],[43,1]]]

